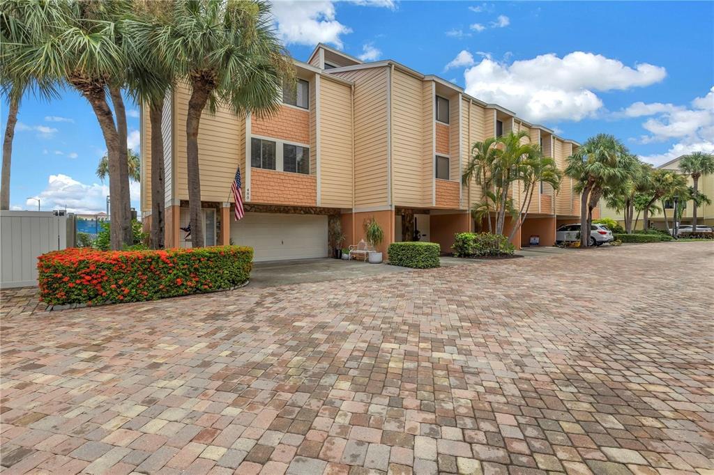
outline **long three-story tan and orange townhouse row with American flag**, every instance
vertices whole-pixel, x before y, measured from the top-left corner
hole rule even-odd
[[[296,91],[283,93],[270,118],[237,118],[219,109],[204,114],[199,132],[201,202],[206,245],[250,245],[256,260],[328,255],[328,227],[339,220],[343,245],[364,237],[367,220],[391,242],[428,240],[447,251],[453,235],[481,228],[471,206],[481,199],[476,183],[461,175],[471,145],[509,131],[526,131],[561,168],[578,144],[533,125],[496,104],[479,101],[437,76],[395,61],[363,63],[318,45],[307,63],[294,61]],[[166,246],[188,247],[185,121],[188,89],[166,101]],[[141,209],[151,225],[151,129],[142,120]],[[231,183],[240,168],[246,215],[232,218]],[[522,185],[514,202],[525,200]],[[540,237],[551,245],[558,224],[577,219],[580,203],[569,179],[558,195],[535,190],[528,218],[513,241]],[[507,223],[506,232],[508,232]]]

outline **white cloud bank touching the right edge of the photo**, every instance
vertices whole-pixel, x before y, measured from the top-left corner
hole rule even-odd
[[[674,141],[666,152],[642,157],[649,163],[661,165],[692,152],[714,153],[714,87],[705,96],[690,101],[689,106],[639,102],[621,114],[648,116],[642,124],[648,134],[638,139],[640,143]]]

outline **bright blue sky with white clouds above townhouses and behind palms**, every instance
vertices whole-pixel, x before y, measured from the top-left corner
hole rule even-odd
[[[565,138],[613,133],[664,163],[714,152],[714,2],[280,1],[276,29],[306,61],[318,41],[437,74]],[[136,106],[128,118],[138,149]],[[2,127],[6,121],[3,103]],[[102,210],[105,147],[74,92],[29,96],[14,141],[11,205]],[[138,208],[139,186],[133,185]]]

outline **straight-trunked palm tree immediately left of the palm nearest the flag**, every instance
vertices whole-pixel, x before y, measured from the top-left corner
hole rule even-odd
[[[146,104],[151,123],[151,230],[149,244],[152,249],[164,247],[165,170],[164,136],[161,123],[164,120],[164,102],[170,97],[176,84],[176,68],[164,61],[147,38],[159,34],[172,25],[174,9],[164,1],[136,0],[134,15],[124,20],[126,57],[130,61],[128,75],[129,91]]]

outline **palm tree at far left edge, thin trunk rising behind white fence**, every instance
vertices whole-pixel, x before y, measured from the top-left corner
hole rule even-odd
[[[17,55],[31,41],[31,32],[39,21],[54,21],[54,8],[38,2],[32,9],[15,9],[13,5],[0,9],[0,88],[8,101],[8,116],[2,145],[2,178],[0,182],[0,210],[10,209],[10,169],[12,142],[15,137],[17,114],[26,91],[49,100],[58,96],[59,86],[53,78],[31,76],[26,71],[14,71]]]

